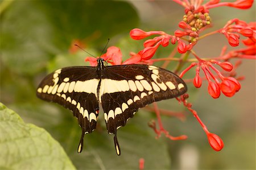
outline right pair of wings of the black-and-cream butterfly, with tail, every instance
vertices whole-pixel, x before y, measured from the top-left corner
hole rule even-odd
[[[100,97],[106,127],[115,134],[117,154],[117,128],[125,126],[136,111],[152,102],[174,98],[187,92],[185,82],[176,74],[152,65],[116,65],[105,69]],[[119,154],[118,154],[119,155]]]

